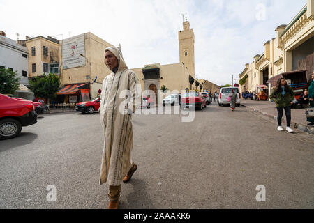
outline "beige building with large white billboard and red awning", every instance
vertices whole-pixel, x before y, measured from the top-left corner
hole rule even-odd
[[[110,74],[105,66],[105,49],[112,46],[93,33],[65,39],[60,45],[61,90],[58,102],[81,102],[96,98],[103,79]]]

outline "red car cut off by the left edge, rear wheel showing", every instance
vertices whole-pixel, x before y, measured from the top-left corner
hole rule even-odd
[[[30,100],[17,100],[0,94],[0,139],[16,137],[22,126],[37,123],[34,109]]]

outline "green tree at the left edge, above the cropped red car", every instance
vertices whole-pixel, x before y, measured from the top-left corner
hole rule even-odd
[[[6,68],[0,69],[0,93],[13,94],[20,85],[17,72]]]

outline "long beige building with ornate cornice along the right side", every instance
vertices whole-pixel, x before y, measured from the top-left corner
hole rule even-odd
[[[241,72],[241,91],[255,92],[272,77],[306,70],[308,81],[314,69],[314,0],[308,0],[287,25],[275,29],[276,37],[264,43],[264,52]],[[269,85],[269,87],[271,87]]]

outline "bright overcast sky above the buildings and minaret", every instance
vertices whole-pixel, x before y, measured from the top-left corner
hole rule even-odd
[[[274,30],[288,24],[306,0],[54,0],[0,1],[0,30],[8,38],[91,32],[121,44],[129,68],[179,63],[178,31],[187,16],[195,33],[195,75],[231,84],[262,54]],[[63,36],[59,35],[63,34]]]

